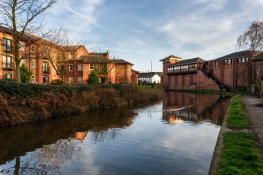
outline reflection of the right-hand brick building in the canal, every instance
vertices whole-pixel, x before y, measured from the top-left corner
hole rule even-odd
[[[209,121],[220,126],[229,102],[229,97],[218,94],[167,92],[163,99],[163,121],[170,125]]]

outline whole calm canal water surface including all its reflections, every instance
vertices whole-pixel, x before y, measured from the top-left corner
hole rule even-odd
[[[163,101],[0,130],[0,174],[208,174],[230,99]]]

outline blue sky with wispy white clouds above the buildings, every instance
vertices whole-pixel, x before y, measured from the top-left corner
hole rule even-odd
[[[48,28],[64,27],[88,50],[109,50],[136,71],[162,71],[160,59],[215,59],[233,53],[263,0],[58,0]]]

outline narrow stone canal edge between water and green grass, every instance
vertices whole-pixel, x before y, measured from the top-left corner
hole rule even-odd
[[[219,135],[217,137],[217,144],[215,145],[215,150],[214,150],[214,153],[212,154],[212,160],[210,163],[208,175],[215,174],[215,171],[217,169],[217,162],[218,162],[219,157],[221,155],[221,150],[223,149],[223,146],[224,146],[224,143],[223,143],[224,142],[224,134],[228,131],[227,124],[226,124],[226,118],[227,118],[227,114],[224,117],[224,120],[223,120],[222,125],[221,125],[221,129],[219,131]]]

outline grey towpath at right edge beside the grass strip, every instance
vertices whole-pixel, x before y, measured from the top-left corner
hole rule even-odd
[[[244,95],[242,97],[242,102],[248,112],[248,118],[253,133],[263,150],[263,99],[256,98],[252,95]]]

